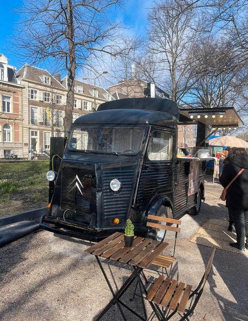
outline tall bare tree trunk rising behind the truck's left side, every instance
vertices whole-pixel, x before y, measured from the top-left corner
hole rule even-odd
[[[74,106],[74,81],[76,71],[76,55],[74,46],[74,24],[72,15],[72,0],[67,0],[67,39],[69,47],[69,66],[67,79],[67,99],[64,117],[64,133],[68,137],[70,126],[72,123],[72,110]]]

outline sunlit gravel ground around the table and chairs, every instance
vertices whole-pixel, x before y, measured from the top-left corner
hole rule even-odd
[[[206,183],[206,202],[198,216],[182,219],[174,266],[174,278],[196,286],[206,267],[212,248],[188,239],[199,225],[210,218],[228,219],[227,209],[219,201],[221,186]],[[170,240],[169,240],[170,241]],[[93,255],[84,250],[89,242],[54,237],[47,231],[29,235],[0,249],[1,321],[89,321],[101,312],[112,295]],[[166,253],[172,246],[166,249]],[[123,264],[104,260],[108,275],[115,276],[113,286],[120,287],[131,270]],[[214,267],[191,320],[248,321],[248,257],[217,250]],[[156,276],[148,273],[148,277]],[[124,302],[141,313],[140,299]],[[150,311],[146,304],[147,310]],[[125,310],[127,320],[136,318]],[[171,320],[178,320],[173,317]],[[112,307],[103,321],[122,320]],[[155,319],[154,319],[155,320]]]

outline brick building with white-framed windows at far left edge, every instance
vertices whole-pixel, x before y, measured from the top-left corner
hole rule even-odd
[[[22,89],[15,68],[0,54],[0,158],[9,153],[23,157]]]

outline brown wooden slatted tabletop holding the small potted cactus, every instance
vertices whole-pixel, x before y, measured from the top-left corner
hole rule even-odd
[[[116,232],[87,248],[85,252],[146,268],[167,246],[166,242],[134,237],[132,247],[125,247],[124,234]]]

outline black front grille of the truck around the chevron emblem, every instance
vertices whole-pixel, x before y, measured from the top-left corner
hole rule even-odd
[[[71,190],[76,181],[73,179],[78,175],[83,188],[82,194],[77,187]],[[71,185],[70,185],[71,184]],[[71,190],[71,191],[70,191]],[[92,196],[92,171],[87,168],[63,167],[61,187],[61,208],[76,212],[77,214],[90,214]]]

